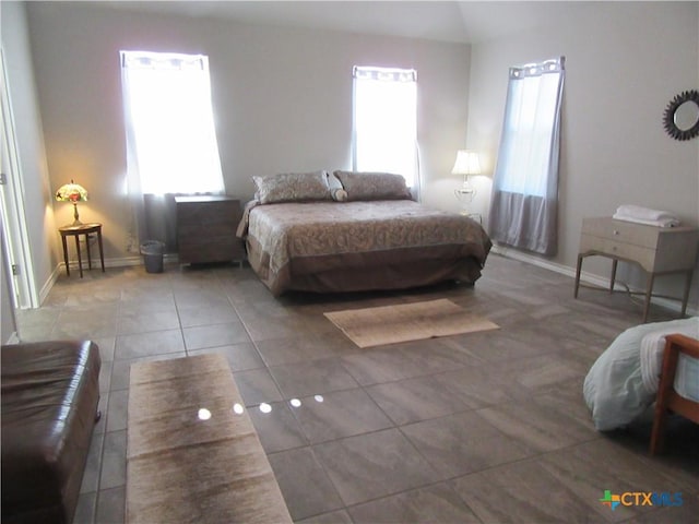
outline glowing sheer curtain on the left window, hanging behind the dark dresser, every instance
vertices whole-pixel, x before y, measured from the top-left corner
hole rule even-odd
[[[131,251],[176,249],[175,195],[225,192],[202,55],[121,51]]]

